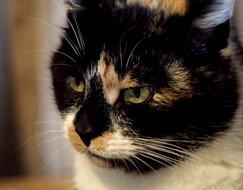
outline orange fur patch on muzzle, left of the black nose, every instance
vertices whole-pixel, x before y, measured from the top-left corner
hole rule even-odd
[[[78,152],[85,152],[86,151],[87,147],[84,145],[83,141],[81,140],[79,135],[76,133],[74,126],[68,127],[67,137],[68,137],[69,141],[72,143],[72,145],[74,146],[74,148]]]

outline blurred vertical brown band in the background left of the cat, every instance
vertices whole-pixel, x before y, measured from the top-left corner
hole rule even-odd
[[[38,102],[38,81],[35,78],[38,76],[37,70],[40,60],[37,54],[27,54],[27,52],[39,49],[41,39],[38,36],[43,32],[41,27],[26,20],[25,17],[41,17],[45,6],[43,2],[43,0],[10,0],[8,4],[12,93],[17,95],[13,96],[14,110],[17,113],[13,118],[19,143],[30,138],[35,130],[34,120]],[[24,169],[22,172],[35,174],[38,153],[31,152],[31,145],[20,146],[19,149]]]

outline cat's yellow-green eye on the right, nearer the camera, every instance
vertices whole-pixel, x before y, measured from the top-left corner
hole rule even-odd
[[[151,89],[149,87],[128,89],[124,92],[126,103],[141,104],[151,97]]]

